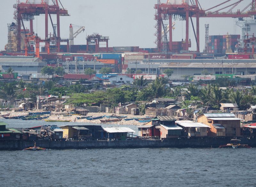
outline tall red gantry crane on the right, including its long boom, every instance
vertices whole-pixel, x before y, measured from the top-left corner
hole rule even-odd
[[[180,0],[180,4],[175,4],[176,1],[168,0],[166,3],[161,3],[158,0],[158,3],[155,4],[156,15],[155,19],[157,21],[156,24],[156,45],[159,52],[163,50],[163,41],[162,41],[162,26],[164,27],[163,20],[169,20],[169,25],[172,25],[172,20],[185,20],[186,21],[186,38],[183,43],[185,43],[185,50],[188,50],[191,43],[188,39],[189,37],[189,19],[191,20],[191,24],[193,27],[193,32],[196,38],[196,51],[199,52],[199,18],[245,18],[251,17],[252,15],[256,15],[255,4],[256,0],[252,0],[249,4],[246,4],[242,11],[237,10],[233,11],[237,5],[241,4],[245,0],[238,0],[235,3],[228,4],[231,0],[227,0],[221,4],[213,6],[207,10],[203,10],[199,0]],[[220,6],[223,6],[219,8]],[[246,11],[249,7],[251,7],[250,11]],[[210,11],[212,9],[219,8],[216,11]],[[226,12],[221,12],[222,10],[228,9]],[[246,12],[245,12],[246,11]],[[194,27],[194,23],[192,21],[192,17],[196,18],[196,29]],[[172,29],[169,31],[169,43],[168,43],[168,51],[172,51]]]

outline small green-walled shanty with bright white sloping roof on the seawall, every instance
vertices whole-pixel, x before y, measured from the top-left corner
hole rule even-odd
[[[134,130],[128,127],[103,127],[104,137],[108,141],[112,140],[127,140],[127,133],[135,133]]]

